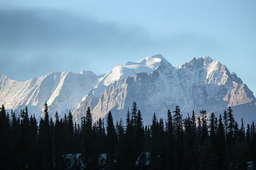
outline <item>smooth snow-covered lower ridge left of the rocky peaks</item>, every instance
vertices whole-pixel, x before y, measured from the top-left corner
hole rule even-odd
[[[39,78],[27,81],[15,81],[0,75],[0,103],[5,108],[20,109],[28,107],[31,114],[40,117],[45,101],[49,105],[49,113],[54,117],[56,111],[63,117],[81,102],[87,92],[93,88],[100,77],[92,72],[51,72]],[[41,115],[42,116],[42,115]]]

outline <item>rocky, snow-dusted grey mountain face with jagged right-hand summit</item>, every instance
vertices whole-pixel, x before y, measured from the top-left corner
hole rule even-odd
[[[166,61],[163,57],[159,60]],[[89,92],[86,99],[92,101],[92,96]],[[167,109],[177,105],[183,115],[187,115],[193,109],[195,112],[202,109],[214,112],[254,100],[252,92],[235,73],[230,73],[223,64],[210,57],[199,57],[178,68],[169,62],[159,62],[152,72],[113,81],[97,94],[93,104],[84,100],[73,114],[79,120],[85,108],[90,106],[94,120],[105,117],[110,110],[117,120],[124,119],[127,108],[137,101],[144,123],[150,124],[154,112],[158,117],[165,117]]]

